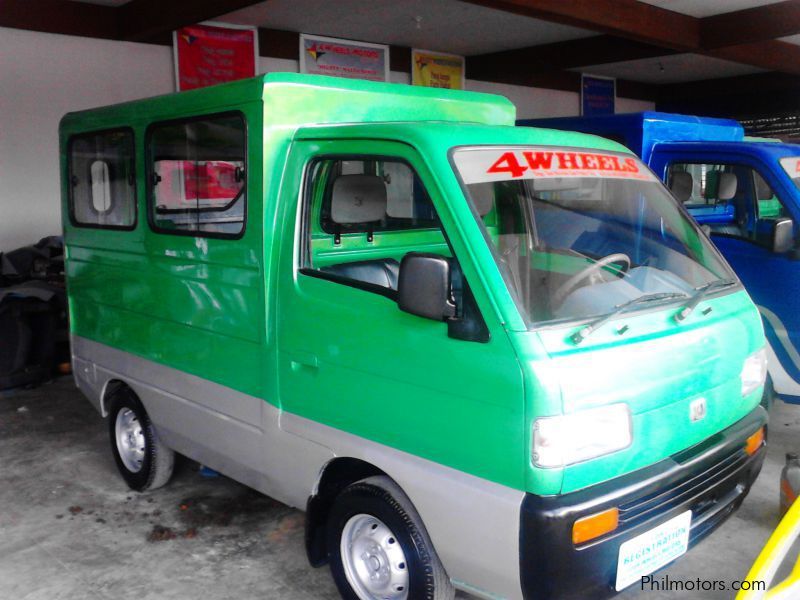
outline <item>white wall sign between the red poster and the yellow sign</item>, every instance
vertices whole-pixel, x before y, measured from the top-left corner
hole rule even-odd
[[[389,46],[303,33],[300,72],[389,81]]]

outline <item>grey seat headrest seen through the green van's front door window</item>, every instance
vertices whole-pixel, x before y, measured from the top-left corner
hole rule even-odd
[[[333,182],[334,223],[370,223],[386,216],[386,183],[377,175],[341,175]]]

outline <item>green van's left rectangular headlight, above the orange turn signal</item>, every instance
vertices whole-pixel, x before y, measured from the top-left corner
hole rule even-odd
[[[553,468],[611,454],[631,445],[631,411],[612,404],[533,423],[533,463]]]

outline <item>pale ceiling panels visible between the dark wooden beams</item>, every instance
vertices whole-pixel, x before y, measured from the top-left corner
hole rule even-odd
[[[115,0],[105,0],[115,1]],[[641,0],[691,17],[763,7],[782,0]],[[590,29],[545,21],[460,0],[268,0],[222,15],[218,21],[332,37],[383,42],[462,55],[542,46],[597,35]],[[513,2],[512,2],[513,4]],[[535,2],[533,3],[535,4]],[[783,38],[800,45],[800,33]],[[697,54],[581,65],[580,71],[648,84],[669,84],[761,73],[766,69]],[[521,65],[524,68],[524,65]]]

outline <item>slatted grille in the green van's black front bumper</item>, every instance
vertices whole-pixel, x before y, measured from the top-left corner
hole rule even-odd
[[[690,498],[697,497],[703,490],[713,488],[736,472],[747,462],[747,458],[744,450],[737,448],[701,473],[678,480],[668,489],[661,488],[622,503],[619,506],[620,529],[634,527],[654,516],[669,512]],[[727,490],[720,491],[721,495],[725,495],[726,492]],[[691,506],[693,520],[713,508],[717,500],[719,496],[703,498]]]

